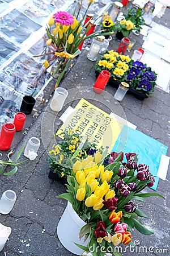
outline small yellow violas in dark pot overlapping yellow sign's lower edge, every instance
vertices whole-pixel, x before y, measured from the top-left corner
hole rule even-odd
[[[65,130],[61,134],[63,139],[54,144],[49,151],[47,160],[50,163],[49,179],[66,183],[67,175],[71,174],[73,164],[87,155],[94,155],[96,146],[88,142],[86,137],[79,137],[73,130]],[[101,148],[100,152],[103,149]],[[99,153],[97,153],[99,154]]]

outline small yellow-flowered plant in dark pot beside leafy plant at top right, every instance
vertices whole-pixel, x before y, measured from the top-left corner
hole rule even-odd
[[[117,25],[116,25],[116,38],[122,39],[127,38],[129,36],[130,32],[135,30],[135,24],[131,22],[130,19],[122,19]]]

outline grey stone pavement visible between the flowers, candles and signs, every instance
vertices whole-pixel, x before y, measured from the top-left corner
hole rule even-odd
[[[170,27],[169,22],[170,9],[167,9],[162,19],[155,19],[156,22],[162,23],[164,26]],[[142,45],[142,36],[136,36],[137,43],[135,48]],[[112,40],[110,44],[111,49],[116,49],[118,41]],[[86,57],[87,49],[84,49],[74,67],[67,74],[65,79],[61,82],[60,86],[66,89],[75,88],[75,91],[80,90],[82,86],[92,87],[95,83],[95,69],[94,62]],[[53,81],[45,89],[45,100],[49,100],[53,93]],[[116,89],[107,85],[105,90],[114,95]],[[83,92],[82,92],[82,97]],[[76,96],[73,95],[71,105],[74,107],[77,104]],[[87,98],[88,100],[88,98]],[[49,103],[48,102],[48,103]],[[106,106],[101,105],[95,101],[94,104],[108,111]],[[169,145],[169,123],[170,123],[170,100],[169,94],[163,90],[156,88],[154,94],[144,100],[139,101],[133,95],[127,94],[124,100],[120,103],[122,109],[126,114],[128,121],[137,125],[137,129],[150,137]],[[48,105],[48,104],[46,104]],[[45,112],[46,105],[36,102],[35,108],[37,109],[38,117],[33,114],[27,117],[27,122],[24,127],[27,127],[28,133],[26,135],[20,133],[15,134],[12,146],[17,152],[18,148],[32,136],[41,139],[41,120]],[[63,111],[69,106],[67,104]],[[63,113],[62,111],[62,113]],[[56,127],[61,125],[58,117],[56,118]],[[45,123],[46,133],[52,130],[50,123]],[[3,152],[3,156],[6,152]],[[167,155],[170,155],[170,147],[168,148]],[[12,233],[7,241],[4,249],[1,251],[0,256],[71,256],[59,242],[56,228],[59,217],[66,207],[66,201],[57,199],[56,196],[65,192],[65,187],[58,181],[52,181],[48,178],[49,163],[46,161],[48,154],[42,144],[39,150],[39,156],[36,160],[24,163],[19,166],[18,172],[14,176],[5,177],[1,175],[0,179],[0,194],[7,189],[12,189],[16,192],[17,200],[14,208],[10,214],[0,214],[0,222],[6,226],[10,226]],[[24,160],[22,156],[21,160]],[[170,255],[169,248],[169,230],[170,230],[170,193],[169,193],[169,170],[167,180],[159,180],[157,192],[161,193],[165,200],[159,197],[149,197],[147,199],[147,207],[143,205],[141,209],[147,212],[149,218],[143,221],[145,226],[149,227],[155,232],[151,236],[144,236],[137,231],[133,233],[133,241],[139,240],[141,246],[147,247],[146,251],[138,250],[127,252],[123,255],[141,255],[150,256],[154,255]],[[151,189],[147,189],[151,192]],[[150,249],[152,246],[153,249]],[[150,249],[150,251],[149,251]],[[163,251],[164,250],[164,251]],[[168,252],[166,251],[168,250]],[[153,253],[152,253],[153,251]]]

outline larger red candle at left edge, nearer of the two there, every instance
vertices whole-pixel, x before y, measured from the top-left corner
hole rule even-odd
[[[14,134],[14,123],[5,123],[5,125],[2,126],[0,134],[0,150],[6,151],[11,147]]]

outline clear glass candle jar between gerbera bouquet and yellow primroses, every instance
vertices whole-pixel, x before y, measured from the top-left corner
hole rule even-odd
[[[91,61],[97,60],[99,55],[100,48],[103,46],[105,37],[104,36],[96,36],[91,44],[90,50],[87,54],[87,58]]]

